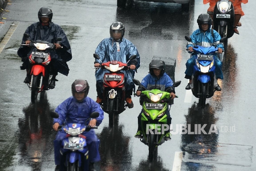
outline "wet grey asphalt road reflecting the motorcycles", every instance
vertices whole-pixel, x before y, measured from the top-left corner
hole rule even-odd
[[[19,22],[0,54],[0,170],[54,170],[52,142],[56,133],[51,131],[49,112],[71,96],[70,86],[77,78],[88,80],[89,97],[96,100],[92,54],[98,43],[109,37],[109,26],[114,21],[124,23],[125,38],[138,48],[141,67],[136,79],[147,74],[153,55],[176,58],[175,80],[182,83],[176,88],[179,98],[171,107],[174,132],[176,124],[191,124],[191,131],[195,130],[194,124],[207,124],[204,130],[208,133],[215,124],[218,134],[173,133],[171,141],[159,146],[157,160],[150,163],[147,146],[133,137],[141,110],[138,97],[134,97],[134,108],[120,115],[117,128],[108,128],[105,114],[96,130],[102,159],[96,170],[171,170],[176,162],[175,152],[183,152],[181,170],[255,170],[255,5],[250,1],[242,6],[246,15],[238,28],[240,35],[229,39],[223,62],[224,80],[219,82],[222,91],[207,99],[209,105],[205,109],[199,109],[198,100],[184,89],[188,59],[184,36],[198,28],[197,16],[206,12],[209,4],[196,1],[195,8],[186,13],[179,4],[135,1],[132,9],[122,10],[116,7],[115,0],[12,0],[6,7],[10,12],[1,16],[7,18],[5,24],[0,25],[2,40],[10,24]],[[52,21],[68,35],[73,59],[68,62],[68,77],[59,74],[56,88],[42,94],[32,105],[16,52],[27,26],[38,21],[37,11],[42,6],[52,8]]]

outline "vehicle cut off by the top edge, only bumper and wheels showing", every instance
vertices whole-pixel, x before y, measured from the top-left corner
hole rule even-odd
[[[120,8],[126,7],[126,2],[130,3],[133,0],[117,0],[117,6]],[[181,4],[181,8],[184,11],[189,11],[192,0],[138,0],[138,1],[147,1],[147,2],[163,2],[163,3],[179,3]]]

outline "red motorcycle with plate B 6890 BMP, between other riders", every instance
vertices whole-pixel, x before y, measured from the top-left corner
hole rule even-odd
[[[93,54],[93,57],[100,60],[100,57],[97,54]],[[129,58],[129,61],[135,58],[136,55],[132,55]],[[105,73],[103,77],[103,98],[101,106],[103,111],[109,114],[109,127],[113,127],[113,125],[117,123],[118,115],[122,113],[126,107],[126,80],[124,77],[124,73],[120,71],[129,69],[127,63],[122,63],[119,61],[109,61],[102,63],[101,67],[99,67],[102,69],[106,69],[110,72]]]

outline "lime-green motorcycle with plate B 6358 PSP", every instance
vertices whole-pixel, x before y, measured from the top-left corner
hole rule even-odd
[[[133,82],[135,85],[142,86],[136,79],[133,79]],[[173,87],[179,86],[180,83],[181,81],[175,82]],[[143,88],[146,89],[145,87]],[[136,93],[134,96],[137,96]],[[155,157],[157,147],[165,142],[163,136],[164,129],[167,129],[167,127],[163,127],[162,130],[162,125],[167,124],[166,110],[169,110],[169,101],[170,93],[159,89],[145,90],[140,95],[140,103],[143,109],[141,117],[143,138],[140,141],[148,145],[150,160]]]

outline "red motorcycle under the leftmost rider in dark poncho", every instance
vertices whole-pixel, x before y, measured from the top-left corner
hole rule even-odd
[[[24,33],[24,37],[29,38],[29,34]],[[57,38],[56,41],[61,41]],[[26,44],[22,44],[26,46]],[[31,81],[28,85],[31,90],[31,102],[35,103],[37,95],[40,92],[49,90],[49,85],[52,83],[52,75],[50,75],[50,67],[47,67],[51,62],[50,51],[55,50],[55,45],[47,41],[36,40],[31,41],[29,45],[32,52],[29,55],[29,62],[32,64],[30,69]]]

